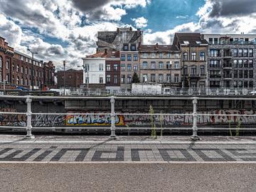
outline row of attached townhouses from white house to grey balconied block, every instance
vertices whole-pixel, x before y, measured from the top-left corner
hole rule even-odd
[[[131,90],[138,76],[162,87],[254,87],[255,38],[175,33],[172,45],[144,45],[140,30],[99,32],[97,53],[83,58],[84,85]]]

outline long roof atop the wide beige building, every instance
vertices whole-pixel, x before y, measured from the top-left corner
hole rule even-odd
[[[159,51],[159,52],[170,52],[170,51],[178,51],[177,46],[174,45],[141,45],[139,46],[139,51]]]

